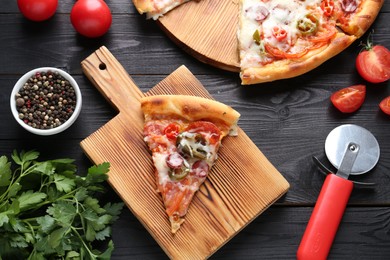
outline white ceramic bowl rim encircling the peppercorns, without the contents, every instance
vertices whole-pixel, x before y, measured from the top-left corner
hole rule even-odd
[[[34,128],[32,126],[29,126],[22,119],[19,118],[19,112],[16,108],[15,97],[16,97],[16,94],[19,92],[19,90],[23,87],[23,85],[28,81],[28,79],[30,77],[33,77],[37,72],[47,72],[47,71],[58,72],[67,81],[69,81],[69,83],[73,86],[73,88],[75,90],[76,107],[75,107],[71,117],[69,117],[61,125],[54,127],[54,128],[50,128],[50,129],[38,129],[38,128]],[[33,69],[33,70],[27,72],[16,82],[16,84],[12,90],[12,93],[11,93],[10,104],[11,104],[12,115],[14,116],[16,122],[18,122],[24,129],[26,129],[27,131],[29,131],[31,133],[37,134],[37,135],[54,135],[54,134],[58,134],[58,133],[64,131],[65,129],[70,127],[76,121],[76,119],[79,116],[80,111],[81,111],[82,97],[81,97],[80,88],[79,88],[77,82],[67,72],[60,70],[60,69],[57,69],[57,68],[53,68],[53,67],[42,67],[42,68],[36,68],[36,69]]]

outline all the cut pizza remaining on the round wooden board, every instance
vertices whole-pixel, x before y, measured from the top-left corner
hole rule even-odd
[[[174,12],[175,7],[185,2],[187,0],[133,0],[141,14],[146,13],[147,18],[153,19],[168,11]],[[242,84],[247,85],[295,77],[318,67],[369,29],[384,0],[235,2],[239,6],[240,78]]]

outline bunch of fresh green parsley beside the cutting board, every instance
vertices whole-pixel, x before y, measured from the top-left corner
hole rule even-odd
[[[0,157],[0,259],[109,259],[112,240],[104,252],[94,249],[110,237],[123,208],[102,207],[94,197],[105,190],[109,163],[80,176],[72,159],[38,162],[38,156],[14,151],[15,170]]]

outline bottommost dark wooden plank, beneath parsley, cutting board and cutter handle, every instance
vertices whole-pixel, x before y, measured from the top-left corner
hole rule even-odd
[[[312,208],[306,207],[273,206],[210,259],[295,259],[311,211]],[[389,214],[389,208],[347,208],[329,259],[388,259]],[[142,230],[131,213],[123,212],[114,224],[113,241],[117,250],[113,259],[165,259],[157,243]]]

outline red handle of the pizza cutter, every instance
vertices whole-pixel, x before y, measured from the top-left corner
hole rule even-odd
[[[327,258],[352,189],[352,181],[328,174],[299,245],[297,259]]]

